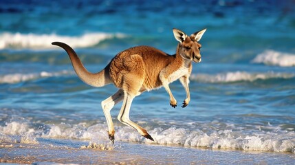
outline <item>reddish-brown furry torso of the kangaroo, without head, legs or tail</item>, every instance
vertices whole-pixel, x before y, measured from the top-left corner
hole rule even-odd
[[[181,65],[180,56],[168,55],[154,47],[138,46],[117,54],[110,63],[109,74],[118,88],[122,89],[123,81],[132,75],[131,78],[135,76],[136,80],[142,80],[137,82],[142,83],[139,91],[149,91],[162,86],[159,74],[163,68],[167,68],[168,76]]]

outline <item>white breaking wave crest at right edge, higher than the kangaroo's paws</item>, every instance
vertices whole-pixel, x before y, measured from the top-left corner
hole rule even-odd
[[[274,50],[265,50],[258,54],[252,63],[263,63],[265,65],[278,65],[281,67],[295,66],[295,54],[276,52]]]

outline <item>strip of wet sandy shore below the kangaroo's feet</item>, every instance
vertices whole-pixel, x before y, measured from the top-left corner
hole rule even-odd
[[[40,139],[39,144],[0,142],[0,162],[17,164],[292,164],[295,154],[212,150],[117,142]],[[85,147],[86,146],[86,147]]]

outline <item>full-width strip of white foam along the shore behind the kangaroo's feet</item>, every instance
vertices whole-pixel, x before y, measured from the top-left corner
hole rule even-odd
[[[36,132],[36,137],[46,138],[74,138],[80,140],[90,140],[89,146],[82,148],[100,148],[106,146],[100,145],[101,142],[108,140],[106,124],[94,124],[86,126],[86,124],[48,124],[50,131],[35,130],[30,128],[29,124],[19,122],[11,122],[6,126],[0,126],[0,131],[8,135],[32,135],[32,131]],[[280,131],[277,127],[276,131],[232,131],[224,129],[220,131],[204,132],[199,129],[177,129],[171,127],[168,129],[146,128],[155,140],[146,140],[140,136],[138,132],[128,126],[116,126],[116,141],[120,142],[141,142],[146,144],[171,144],[187,147],[202,147],[214,149],[234,149],[243,151],[274,151],[278,153],[289,152],[295,153],[295,132]],[[21,131],[16,131],[21,130]],[[6,140],[8,135],[0,134],[2,142]],[[33,144],[36,144],[36,138],[27,138]],[[98,142],[96,145],[95,143]],[[93,143],[93,144],[92,144]]]

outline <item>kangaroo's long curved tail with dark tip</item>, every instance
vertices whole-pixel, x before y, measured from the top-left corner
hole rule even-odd
[[[77,56],[72,47],[69,47],[69,45],[61,42],[54,42],[52,43],[52,45],[62,47],[67,52],[69,58],[72,61],[72,65],[76,74],[87,85],[91,85],[93,87],[102,87],[111,83],[111,79],[109,78],[109,65],[107,65],[105,69],[102,69],[102,71],[96,74],[92,74],[91,72],[88,72],[87,69],[83,66],[80,58]]]

